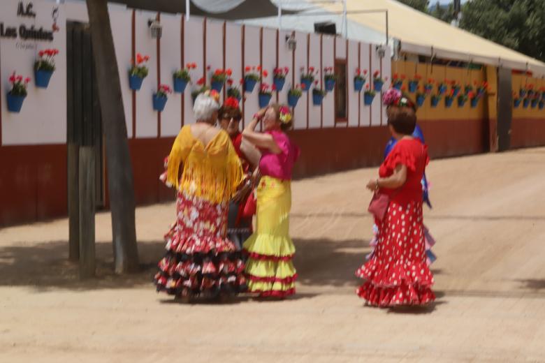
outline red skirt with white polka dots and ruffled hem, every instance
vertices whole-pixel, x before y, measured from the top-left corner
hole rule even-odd
[[[433,276],[426,262],[422,202],[390,202],[376,221],[377,249],[356,271],[365,279],[356,293],[373,306],[421,305],[433,302]]]

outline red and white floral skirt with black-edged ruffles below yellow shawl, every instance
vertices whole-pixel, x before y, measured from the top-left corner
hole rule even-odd
[[[226,239],[228,204],[178,193],[177,221],[166,233],[167,253],[154,277],[170,295],[237,294],[245,291],[245,265]]]

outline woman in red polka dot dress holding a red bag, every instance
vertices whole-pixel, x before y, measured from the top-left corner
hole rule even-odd
[[[367,188],[385,193],[390,201],[378,226],[377,249],[356,271],[365,279],[356,293],[373,306],[423,305],[433,302],[433,276],[426,263],[422,220],[421,179],[428,164],[428,151],[411,135],[416,125],[416,107],[395,89],[384,94],[388,127],[398,140],[379,169],[379,178]]]

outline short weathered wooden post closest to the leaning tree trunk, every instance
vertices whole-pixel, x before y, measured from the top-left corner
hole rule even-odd
[[[80,147],[80,279],[95,275],[94,253],[94,200],[95,151],[94,147]]]

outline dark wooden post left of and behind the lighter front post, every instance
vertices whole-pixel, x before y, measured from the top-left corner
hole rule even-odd
[[[80,259],[80,145],[68,143],[68,258]]]

